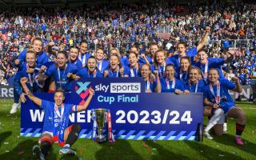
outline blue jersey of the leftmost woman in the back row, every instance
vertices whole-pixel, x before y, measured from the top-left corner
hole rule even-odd
[[[22,64],[23,62],[26,62],[26,52],[27,52],[27,49],[23,50],[18,55],[18,60],[20,64]],[[44,63],[48,62],[48,59],[49,57],[45,51],[42,51],[40,54],[37,54],[37,66],[40,68]]]

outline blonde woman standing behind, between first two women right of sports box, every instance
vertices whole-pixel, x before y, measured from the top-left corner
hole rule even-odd
[[[154,53],[154,66],[151,66],[151,70],[158,70],[159,78],[164,77],[166,70],[166,50],[157,50]]]

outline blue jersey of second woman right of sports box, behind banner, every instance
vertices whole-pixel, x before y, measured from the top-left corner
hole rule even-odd
[[[168,81],[166,78],[160,78],[162,92],[174,92],[176,89],[184,91],[184,84],[175,78],[175,84],[173,81]],[[168,85],[169,83],[169,85]]]

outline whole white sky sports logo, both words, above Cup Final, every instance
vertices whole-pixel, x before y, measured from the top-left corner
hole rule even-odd
[[[115,82],[109,85],[99,85],[95,86],[96,91],[104,91],[105,93],[110,92],[113,94],[134,94],[141,93],[141,83],[140,82]]]

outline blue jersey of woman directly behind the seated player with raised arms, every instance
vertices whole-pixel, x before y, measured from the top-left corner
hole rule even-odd
[[[45,75],[48,77],[54,75],[56,88],[62,88],[66,92],[69,92],[71,90],[71,82],[73,80],[71,78],[67,78],[67,74],[76,74],[77,71],[77,66],[68,63],[64,69],[58,69],[56,65],[50,66]]]

